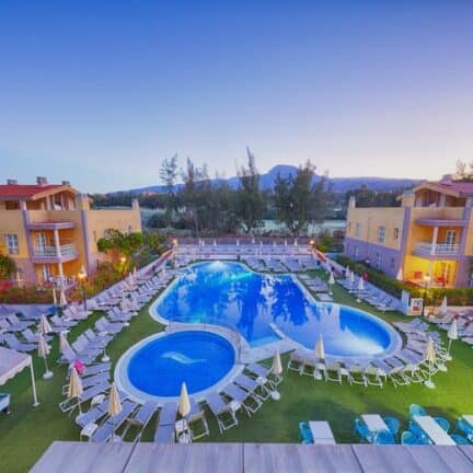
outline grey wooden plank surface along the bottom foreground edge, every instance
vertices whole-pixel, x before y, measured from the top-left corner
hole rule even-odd
[[[54,442],[33,473],[463,473],[473,446]]]

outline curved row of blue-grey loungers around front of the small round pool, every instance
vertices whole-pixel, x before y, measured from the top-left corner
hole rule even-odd
[[[188,436],[184,441],[194,441],[209,435],[206,409],[215,416],[220,432],[223,432],[238,425],[239,411],[247,416],[256,413],[281,381],[279,377],[270,379],[270,369],[253,364],[246,367],[245,373],[239,374],[219,392],[209,393],[201,403],[191,397],[191,412],[185,418],[180,418],[177,402],[159,405],[157,401],[148,401],[140,405],[128,400],[125,393],[119,393],[122,412],[111,417],[108,370],[109,364],[88,367],[82,377],[83,393],[80,399],[66,400],[60,404],[60,408],[71,415],[79,404],[91,403],[89,409],[83,411],[82,407],[76,415],[76,423],[82,429],[81,435],[93,442],[109,441],[116,437],[139,440],[153,416],[157,417],[154,442],[183,441],[182,435]]]

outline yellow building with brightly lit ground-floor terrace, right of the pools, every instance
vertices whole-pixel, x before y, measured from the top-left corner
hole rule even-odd
[[[347,214],[345,254],[416,286],[471,286],[473,183],[424,182],[401,207],[357,208]]]

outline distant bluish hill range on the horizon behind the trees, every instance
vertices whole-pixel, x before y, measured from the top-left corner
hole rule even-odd
[[[278,173],[282,177],[287,177],[289,174],[296,174],[297,166],[289,164],[278,164],[272,168],[267,173],[261,175],[261,186],[263,189],[272,188],[276,176]],[[318,174],[314,174],[314,180],[320,178]],[[215,181],[215,180],[214,180]],[[224,180],[228,184],[235,188],[239,184],[238,176],[229,177]],[[360,187],[361,185],[367,185],[372,191],[391,191],[399,189],[403,187],[412,187],[417,185],[419,180],[412,178],[390,178],[390,177],[330,177],[330,183],[332,184],[332,188],[334,192],[344,193],[350,189],[355,189]],[[182,187],[182,184],[176,184],[176,188]],[[146,192],[164,192],[163,185],[152,185],[148,187],[134,188],[128,191],[120,191],[132,194],[140,194]],[[112,193],[114,194],[114,193]]]

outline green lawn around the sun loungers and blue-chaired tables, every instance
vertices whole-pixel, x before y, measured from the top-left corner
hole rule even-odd
[[[337,302],[348,303],[377,313],[388,321],[401,320],[400,314],[382,314],[366,304],[358,304],[355,299],[339,287],[334,287]],[[70,338],[92,325],[100,314],[96,313],[81,323]],[[131,321],[115,341],[107,354],[116,361],[130,345],[142,337],[162,330],[148,314],[148,307]],[[57,342],[54,344],[50,359],[57,359]],[[211,436],[207,441],[253,441],[253,442],[297,442],[298,423],[309,419],[326,419],[331,423],[338,442],[355,442],[351,428],[356,416],[364,413],[393,415],[403,422],[407,420],[411,403],[424,405],[429,413],[442,415],[452,423],[464,413],[473,413],[471,392],[473,391],[473,360],[471,348],[457,342],[452,349],[453,361],[448,372],[438,373],[434,380],[435,390],[418,384],[394,389],[391,384],[383,389],[370,387],[338,385],[314,381],[291,372],[285,373],[280,384],[281,400],[267,401],[263,408],[252,418],[240,415],[240,425],[219,435],[214,419],[208,416]],[[286,361],[286,358],[284,358]],[[24,371],[9,381],[0,390],[12,395],[12,413],[0,417],[0,472],[24,472],[41,457],[53,440],[78,440],[79,428],[73,419],[59,411],[58,403],[61,384],[65,382],[66,368],[54,366],[54,378],[44,381],[43,360],[35,359],[37,389],[41,405],[32,407],[30,373]],[[143,440],[152,438],[150,425]]]

